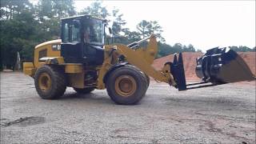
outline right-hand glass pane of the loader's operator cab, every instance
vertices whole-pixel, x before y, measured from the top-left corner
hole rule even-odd
[[[104,43],[104,26],[103,22],[96,19],[88,19],[83,24],[83,41],[96,45]]]

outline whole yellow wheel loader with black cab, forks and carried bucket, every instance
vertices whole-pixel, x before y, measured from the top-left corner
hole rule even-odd
[[[196,74],[202,82],[187,85],[182,53],[175,54],[162,70],[151,66],[158,53],[154,34],[129,45],[104,45],[106,20],[82,15],[61,21],[61,39],[35,46],[34,62],[23,63],[23,72],[34,78],[41,98],[60,98],[70,86],[81,94],[106,89],[115,103],[131,105],[146,94],[149,77],[178,90],[255,79],[233,50],[214,48],[196,59]],[[147,40],[147,46],[141,47]],[[210,85],[198,86],[204,83]]]

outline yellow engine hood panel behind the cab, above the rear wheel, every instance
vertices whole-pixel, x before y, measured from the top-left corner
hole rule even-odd
[[[39,53],[42,50],[46,50],[46,54],[43,55],[43,57],[61,57],[61,51],[60,50],[53,50],[53,45],[60,45],[61,39],[49,41],[49,42],[43,42],[42,44],[39,44],[38,46],[35,46],[34,48],[34,67],[38,68],[42,66],[45,62],[39,62]]]

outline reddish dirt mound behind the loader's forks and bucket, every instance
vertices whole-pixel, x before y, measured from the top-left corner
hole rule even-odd
[[[238,52],[243,58],[246,64],[250,67],[250,70],[256,75],[256,52]],[[200,80],[195,74],[196,58],[201,57],[202,53],[198,52],[184,52],[182,53],[185,75],[187,80]],[[162,67],[166,62],[172,62],[174,60],[174,54],[167,55],[166,57],[158,58],[154,60],[153,66],[156,70],[162,70]]]

